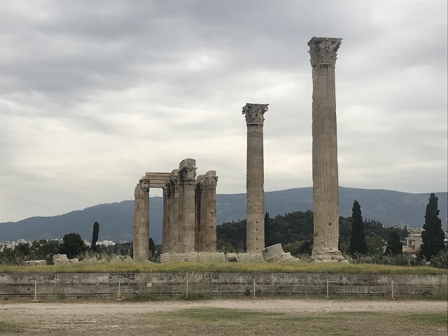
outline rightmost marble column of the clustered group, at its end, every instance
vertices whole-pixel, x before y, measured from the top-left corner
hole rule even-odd
[[[204,176],[201,186],[201,235],[200,246],[204,252],[216,252],[216,171],[210,170]]]

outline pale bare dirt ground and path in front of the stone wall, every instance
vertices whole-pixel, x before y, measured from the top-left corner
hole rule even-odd
[[[151,313],[197,308],[269,311],[290,316],[319,316],[321,314],[349,312],[361,314],[363,312],[386,313],[391,316],[399,316],[400,314],[447,314],[447,302],[433,300],[215,299],[193,302],[30,302],[0,304],[0,328],[1,323],[3,323],[3,332],[6,332],[6,335],[92,335],[92,333],[99,335],[146,335],[155,331],[151,330]],[[8,330],[8,326],[10,330]],[[160,325],[157,334],[173,335],[168,332],[169,328],[166,329],[166,334],[163,330]],[[437,331],[440,331],[440,335],[447,335],[447,328],[438,328]],[[2,330],[0,330],[1,333]],[[187,330],[179,330],[177,335],[194,334]]]

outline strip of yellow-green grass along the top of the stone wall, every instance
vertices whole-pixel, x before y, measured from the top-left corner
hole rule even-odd
[[[418,274],[444,275],[446,269],[428,266],[390,266],[375,264],[237,263],[237,262],[166,262],[163,264],[98,265],[1,265],[0,273],[122,273],[122,272],[219,272],[219,273],[323,273],[323,274]]]

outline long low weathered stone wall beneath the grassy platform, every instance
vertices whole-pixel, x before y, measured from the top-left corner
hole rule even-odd
[[[0,299],[29,297],[113,297],[118,283],[123,296],[188,293],[209,295],[447,295],[444,275],[297,274],[297,273],[52,273],[0,274]],[[151,285],[148,285],[151,283]]]

